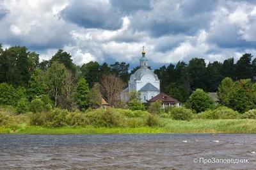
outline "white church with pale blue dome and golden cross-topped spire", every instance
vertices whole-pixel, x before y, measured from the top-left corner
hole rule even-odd
[[[145,57],[143,47],[142,57],[140,58],[140,68],[131,75],[128,87],[122,91],[121,100],[127,101],[130,91],[141,93],[141,102],[147,102],[160,93],[160,81],[157,75],[148,68],[148,59]]]

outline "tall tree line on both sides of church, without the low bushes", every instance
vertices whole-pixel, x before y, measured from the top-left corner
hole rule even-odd
[[[218,91],[218,86],[225,77],[230,77],[232,81],[254,81],[256,59],[252,60],[252,57],[251,54],[244,54],[237,63],[234,58],[229,58],[223,63],[214,61],[208,65],[202,58],[193,58],[189,63],[179,61],[176,66],[172,63],[167,67],[162,66],[154,70],[154,73],[161,80],[161,92],[180,102],[186,102],[198,88],[207,92]],[[125,82],[126,85],[118,81],[120,86],[112,87],[117,94],[127,86],[130,75],[138,68],[140,67],[137,66],[129,73],[129,63],[100,65],[96,61],[77,66],[73,63],[72,56],[63,50],[58,50],[51,59],[40,62],[39,55],[29,52],[26,47],[3,49],[0,45],[0,83],[5,83],[1,84],[3,89],[0,90],[3,91],[0,105],[17,107],[21,99],[23,102],[25,99],[31,102],[38,98],[48,98],[44,100],[48,103],[52,101],[52,107],[84,109],[100,105],[100,95],[111,101],[111,105],[116,105],[118,97],[110,94],[106,87],[101,90],[104,85],[103,77],[115,75]]]

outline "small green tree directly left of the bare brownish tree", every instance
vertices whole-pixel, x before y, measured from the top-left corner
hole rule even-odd
[[[101,102],[102,102],[102,96],[100,93],[100,84],[95,83],[87,95],[86,103],[88,107],[97,109],[100,107]]]

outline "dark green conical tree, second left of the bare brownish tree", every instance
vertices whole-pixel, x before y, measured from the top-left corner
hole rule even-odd
[[[76,87],[76,101],[80,109],[86,109],[88,104],[86,102],[89,93],[89,84],[84,78],[79,79]]]

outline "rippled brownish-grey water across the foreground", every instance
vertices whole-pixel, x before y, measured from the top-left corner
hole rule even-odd
[[[0,169],[256,169],[256,134],[10,134],[0,144]]]

